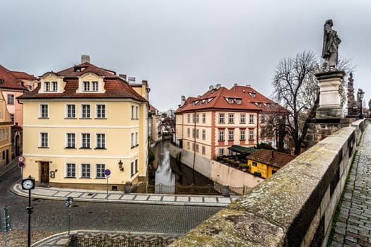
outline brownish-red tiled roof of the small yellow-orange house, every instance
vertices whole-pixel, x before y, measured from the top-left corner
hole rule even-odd
[[[281,168],[285,164],[288,164],[288,162],[290,162],[291,160],[295,159],[295,157],[295,155],[288,155],[283,152],[259,149],[253,152],[251,155],[247,156],[247,159]]]

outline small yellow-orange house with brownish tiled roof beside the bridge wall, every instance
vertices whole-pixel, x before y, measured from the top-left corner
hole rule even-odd
[[[252,174],[266,179],[293,159],[295,159],[294,155],[260,149],[247,156],[247,165]]]

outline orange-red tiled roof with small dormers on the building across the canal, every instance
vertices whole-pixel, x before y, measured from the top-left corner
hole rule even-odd
[[[232,101],[232,103],[229,102]],[[234,85],[213,88],[199,97],[188,97],[184,104],[175,113],[193,112],[204,109],[228,109],[238,111],[277,112],[285,110],[269,98],[249,86]]]

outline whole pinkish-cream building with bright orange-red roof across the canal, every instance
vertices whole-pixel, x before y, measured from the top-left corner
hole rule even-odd
[[[175,142],[207,159],[231,155],[228,147],[232,145],[274,145],[275,136],[264,134],[266,119],[280,110],[278,104],[249,85],[235,84],[230,89],[210,86],[199,97],[182,97],[175,111]]]

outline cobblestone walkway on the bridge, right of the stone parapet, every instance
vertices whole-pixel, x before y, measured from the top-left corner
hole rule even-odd
[[[331,245],[371,247],[371,127],[367,126],[346,184]]]

